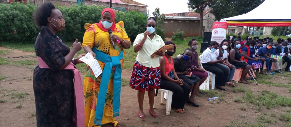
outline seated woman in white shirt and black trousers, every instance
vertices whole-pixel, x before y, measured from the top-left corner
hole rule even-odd
[[[225,59],[216,59],[216,49],[219,48],[219,55],[218,57],[223,56],[223,52],[216,41],[211,41],[210,46],[203,51],[202,59],[200,60],[203,68],[207,71],[210,71],[216,74],[215,77],[215,86],[216,88],[226,91],[224,86],[229,76],[229,67],[222,64],[224,63]]]

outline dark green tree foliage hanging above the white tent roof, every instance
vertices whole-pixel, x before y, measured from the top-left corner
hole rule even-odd
[[[265,0],[219,0],[212,2],[212,11],[216,20],[246,14]]]

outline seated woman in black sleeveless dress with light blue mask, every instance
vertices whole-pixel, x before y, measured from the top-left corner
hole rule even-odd
[[[250,66],[246,64],[245,61],[241,60],[242,55],[240,54],[240,41],[234,40],[231,44],[232,49],[229,52],[228,61],[230,64],[234,65],[235,68],[243,68],[242,76],[240,77],[240,83],[249,83],[246,80],[246,76],[248,74],[248,69]]]

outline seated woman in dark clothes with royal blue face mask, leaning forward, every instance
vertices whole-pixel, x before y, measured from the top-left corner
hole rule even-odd
[[[189,85],[191,88],[191,96],[189,98],[189,101],[187,101],[188,104],[199,107],[199,104],[195,101],[195,95],[198,94],[198,88],[200,83],[200,78],[195,75],[190,75],[191,69],[188,68],[188,60],[192,56],[192,50],[191,49],[185,49],[184,53],[180,56],[177,56],[174,58],[174,68],[175,71],[180,79],[183,79],[184,85]],[[188,76],[185,76],[188,75]]]

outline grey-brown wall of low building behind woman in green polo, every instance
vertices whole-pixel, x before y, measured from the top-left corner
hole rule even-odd
[[[174,20],[166,19],[166,21],[161,24],[161,28],[165,29],[166,38],[171,38],[177,29],[184,31],[183,37],[198,36],[200,21],[194,20]]]

